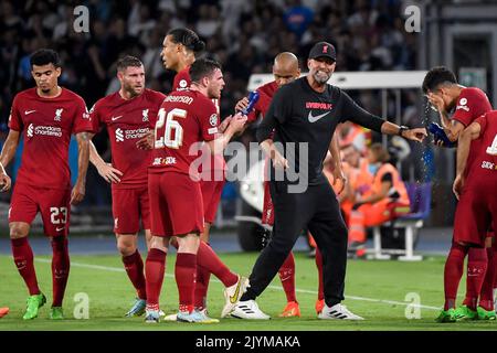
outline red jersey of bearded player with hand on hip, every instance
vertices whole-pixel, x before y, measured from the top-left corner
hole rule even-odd
[[[165,98],[166,95],[148,88],[133,99],[124,99],[116,92],[99,99],[89,110],[93,131],[107,128],[113,167],[123,172],[120,183],[113,183],[113,188],[135,189],[147,184],[151,151],[138,149],[136,142],[149,131]]]

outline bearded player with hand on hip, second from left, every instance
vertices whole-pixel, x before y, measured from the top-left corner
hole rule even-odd
[[[138,149],[136,142],[150,127],[166,96],[145,88],[144,64],[134,56],[117,62],[120,89],[99,99],[89,110],[94,133],[105,127],[110,138],[112,163],[106,163],[91,143],[89,160],[109,183],[113,192],[114,233],[126,272],[137,298],[126,317],[145,313],[147,293],[144,261],[138,250],[138,232],[145,229],[147,247],[150,234],[147,169],[151,151]],[[94,133],[91,135],[93,138]]]

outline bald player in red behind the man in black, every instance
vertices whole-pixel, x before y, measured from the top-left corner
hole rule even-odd
[[[258,87],[256,90],[260,94],[260,98],[255,104],[254,110],[247,116],[247,124],[254,122],[262,115],[264,116],[267,111],[271,100],[273,99],[276,90],[293,82],[300,76],[300,68],[298,66],[298,58],[295,54],[289,52],[283,52],[276,55],[273,64],[273,75],[274,81]],[[236,110],[243,110],[248,105],[248,98],[241,99],[236,106]],[[265,170],[268,169],[268,159],[266,159]],[[271,200],[269,193],[269,182],[264,181],[264,207],[262,214],[263,225],[273,226],[274,223],[274,211],[273,202]],[[320,264],[317,257],[316,264]],[[319,265],[318,265],[319,269]],[[285,263],[279,268],[279,279],[282,280],[283,289],[286,295],[286,307],[279,314],[282,318],[300,317],[300,308],[295,295],[295,258],[294,254],[290,252]]]

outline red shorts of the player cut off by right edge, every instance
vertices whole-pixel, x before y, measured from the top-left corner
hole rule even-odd
[[[491,189],[465,189],[457,203],[454,220],[454,240],[485,245],[488,231],[497,224],[497,197]]]

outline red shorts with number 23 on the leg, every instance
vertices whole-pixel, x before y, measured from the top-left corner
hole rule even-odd
[[[15,184],[9,210],[9,223],[31,224],[40,211],[47,236],[67,236],[71,215],[71,189],[34,188]]]

